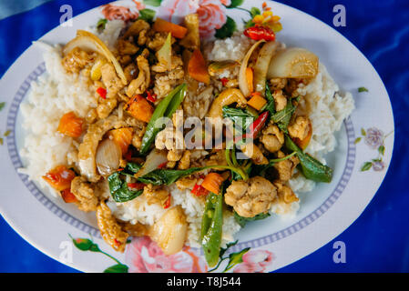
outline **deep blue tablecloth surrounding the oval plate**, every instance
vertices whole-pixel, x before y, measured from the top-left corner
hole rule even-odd
[[[332,7],[345,5],[347,26],[336,28],[368,57],[394,107],[395,145],[389,172],[371,204],[352,226],[310,256],[278,272],[409,272],[409,1],[279,1],[332,25]],[[0,21],[0,75],[59,23],[59,7],[78,15],[107,1],[54,0]],[[1,9],[1,6],[0,6]],[[0,95],[1,99],[1,95]],[[1,101],[1,100],[0,100]],[[346,264],[334,264],[333,242],[346,244]],[[77,272],[43,255],[0,218],[0,272]]]

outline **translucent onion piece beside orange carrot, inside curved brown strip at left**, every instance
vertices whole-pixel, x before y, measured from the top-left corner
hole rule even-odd
[[[99,174],[109,176],[117,171],[121,157],[121,149],[113,140],[107,138],[99,143],[96,155],[96,164]]]

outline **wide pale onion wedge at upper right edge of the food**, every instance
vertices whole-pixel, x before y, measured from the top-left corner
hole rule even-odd
[[[313,78],[318,74],[319,59],[309,50],[291,47],[278,52],[271,58],[267,77]]]

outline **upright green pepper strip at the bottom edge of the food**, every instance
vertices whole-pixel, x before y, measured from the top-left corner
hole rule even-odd
[[[219,194],[210,193],[201,220],[201,246],[209,266],[216,266],[219,261],[223,228],[223,191]]]

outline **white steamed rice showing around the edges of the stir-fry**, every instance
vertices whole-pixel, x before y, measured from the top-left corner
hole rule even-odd
[[[118,38],[123,22],[108,22],[103,35],[99,35],[107,45],[112,46]],[[208,47],[206,55],[210,60],[240,60],[252,41],[244,35],[234,35],[225,40],[217,40]],[[21,173],[30,179],[48,187],[41,178],[49,169],[61,164],[76,163],[77,144],[67,136],[56,132],[61,115],[74,111],[85,116],[87,111],[96,107],[97,100],[81,75],[67,75],[61,65],[60,47],[46,47],[44,59],[47,74],[32,84],[32,90],[25,104],[21,105],[26,130],[25,146],[21,155],[26,159],[26,168]],[[313,135],[307,152],[325,162],[323,156],[334,150],[336,140],[334,132],[341,128],[343,119],[353,111],[353,96],[341,94],[338,85],[328,75],[323,65],[320,73],[309,85],[301,85],[300,95],[305,95],[305,102],[310,108]],[[314,183],[303,176],[290,181],[296,193],[311,191]],[[50,188],[51,193],[55,193]],[[204,205],[199,198],[192,196],[189,190],[180,191],[177,186],[170,186],[172,205],[181,206],[189,221],[189,246],[199,246],[201,216]],[[109,196],[109,195],[107,195]],[[158,205],[148,205],[143,196],[126,202],[116,203],[112,198],[107,202],[113,214],[123,221],[152,225],[166,211]],[[293,216],[298,210],[298,203],[291,206],[276,204],[271,213],[281,216]],[[226,212],[223,223],[223,244],[234,239],[240,226],[234,217]]]

